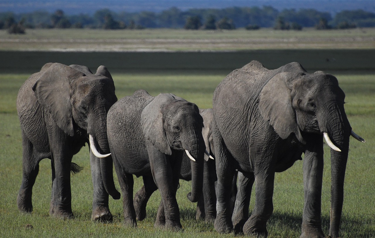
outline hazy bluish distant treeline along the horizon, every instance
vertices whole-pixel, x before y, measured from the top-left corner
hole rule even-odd
[[[375,14],[363,10],[341,11],[334,17],[329,12],[315,9],[284,9],[278,11],[272,6],[232,7],[225,9],[178,8],[155,12],[113,12],[102,9],[93,15],[66,15],[62,10],[54,13],[36,11],[24,14],[0,12],[0,29],[11,33],[27,28],[101,28],[101,29],[143,29],[143,28],[185,28],[185,29],[317,29],[374,27]],[[12,32],[13,31],[13,32]]]

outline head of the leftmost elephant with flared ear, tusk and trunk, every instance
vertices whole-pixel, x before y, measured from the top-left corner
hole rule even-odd
[[[48,63],[41,72],[32,89],[58,127],[72,137],[75,134],[89,137],[90,149],[95,156],[110,155],[107,112],[117,97],[107,68],[99,66],[93,74],[86,66]],[[111,157],[103,160],[111,160]],[[102,173],[112,174],[106,169],[112,171],[112,165],[101,168]],[[118,197],[120,193],[115,190],[113,178],[112,186],[108,193]]]

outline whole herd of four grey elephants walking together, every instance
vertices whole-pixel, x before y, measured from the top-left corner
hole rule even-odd
[[[216,87],[213,108],[169,93],[138,90],[117,101],[105,66],[47,63],[31,75],[17,97],[23,139],[23,179],[17,196],[31,212],[39,161],[51,160],[49,214],[71,218],[72,157],[90,147],[92,220],[111,221],[109,195],[123,196],[124,225],[146,217],[151,194],[160,191],[155,227],[181,229],[176,200],[179,179],[192,181],[187,198],[197,219],[214,222],[219,233],[267,236],[273,212],[275,172],[303,158],[305,202],[300,237],[324,237],[321,226],[323,138],[331,147],[330,237],[339,236],[349,138],[365,142],[350,126],[345,94],[330,74],[313,74],[299,63],[267,69],[252,61]],[[133,175],[144,186],[133,199]],[[238,177],[238,182],[237,182]],[[255,206],[249,203],[255,182]]]

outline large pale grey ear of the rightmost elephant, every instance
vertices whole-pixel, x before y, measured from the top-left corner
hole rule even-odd
[[[291,133],[294,133],[297,139],[305,144],[297,125],[296,112],[292,104],[292,90],[287,84],[291,78],[288,72],[276,74],[260,93],[259,109],[264,120],[269,121],[282,139],[287,139]]]

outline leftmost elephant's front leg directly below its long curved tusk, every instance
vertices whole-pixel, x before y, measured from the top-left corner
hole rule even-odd
[[[108,158],[105,158],[108,159]],[[100,169],[100,159],[90,152],[90,167],[93,180],[93,211],[91,219],[94,221],[112,221],[113,215],[108,205],[109,195],[105,190],[102,173]]]

